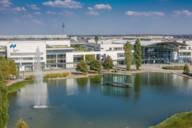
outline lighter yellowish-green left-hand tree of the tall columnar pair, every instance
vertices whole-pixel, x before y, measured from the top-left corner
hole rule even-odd
[[[127,70],[131,69],[131,64],[132,64],[132,46],[129,42],[127,42],[124,47],[124,53],[125,53],[125,64]]]

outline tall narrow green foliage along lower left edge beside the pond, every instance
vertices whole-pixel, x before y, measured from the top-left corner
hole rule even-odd
[[[0,128],[6,128],[8,122],[8,90],[0,81]]]

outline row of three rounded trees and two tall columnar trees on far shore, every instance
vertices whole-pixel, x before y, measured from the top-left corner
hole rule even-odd
[[[125,64],[126,64],[126,69],[131,70],[131,65],[135,63],[136,69],[139,70],[139,68],[142,65],[142,48],[141,48],[141,43],[140,40],[137,39],[134,45],[134,54],[132,54],[132,45],[131,43],[127,42],[124,45],[124,54],[125,54]],[[133,59],[134,55],[134,59]],[[93,70],[96,72],[100,72],[102,67],[104,69],[112,69],[113,68],[113,61],[110,56],[107,56],[103,62],[100,60],[96,60],[94,55],[86,55],[85,56],[85,61],[82,58],[79,64],[77,64],[76,70],[87,73],[88,70]]]

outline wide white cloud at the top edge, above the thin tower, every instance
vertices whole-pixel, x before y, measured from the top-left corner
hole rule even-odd
[[[43,5],[50,6],[50,7],[63,7],[63,8],[81,8],[82,5],[80,2],[75,0],[55,0],[55,1],[47,1],[44,2]]]

